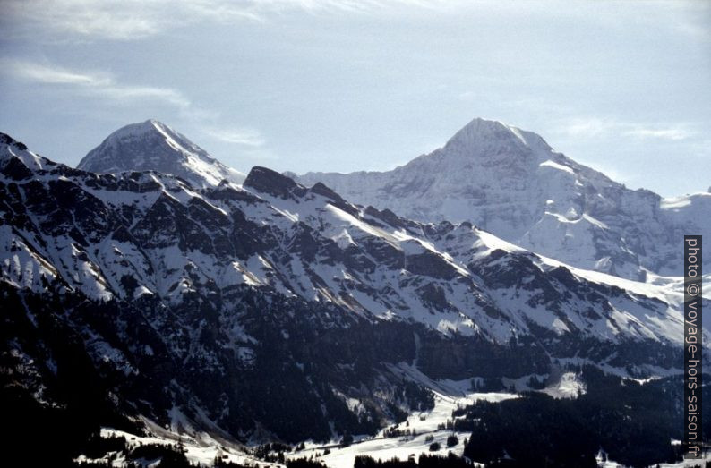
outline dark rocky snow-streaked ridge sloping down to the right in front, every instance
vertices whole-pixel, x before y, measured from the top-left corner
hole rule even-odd
[[[110,402],[161,426],[298,441],[427,407],[414,373],[501,384],[560,362],[640,376],[681,364],[673,282],[569,267],[263,167],[241,187],[188,180],[73,169],[0,136],[15,387],[52,404],[67,395],[57,376],[87,362]]]

